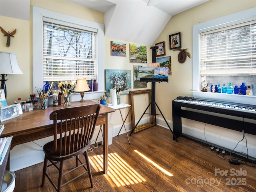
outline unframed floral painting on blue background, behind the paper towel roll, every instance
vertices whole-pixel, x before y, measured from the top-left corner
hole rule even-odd
[[[115,87],[119,88],[121,95],[129,94],[129,91],[132,88],[131,70],[106,69],[105,76],[107,96],[109,95],[109,90],[114,89]]]

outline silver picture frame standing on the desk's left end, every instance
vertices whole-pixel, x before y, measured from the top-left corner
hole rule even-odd
[[[0,110],[0,122],[20,116],[17,104],[2,107]]]

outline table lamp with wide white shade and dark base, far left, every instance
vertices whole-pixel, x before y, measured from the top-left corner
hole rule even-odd
[[[5,76],[7,76],[7,74],[23,74],[20,70],[15,53],[0,52],[0,74],[2,75],[2,79],[0,80],[2,82],[1,89],[4,90],[6,99],[7,92],[5,82],[8,79],[5,79]]]

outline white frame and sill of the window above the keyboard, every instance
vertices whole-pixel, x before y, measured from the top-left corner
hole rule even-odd
[[[193,85],[192,85],[192,95],[195,98],[204,98],[211,100],[222,100],[241,103],[241,97],[244,95],[235,94],[216,94],[210,92],[201,92],[201,78],[199,69],[199,34],[201,32],[206,32],[210,30],[215,30],[218,28],[223,28],[226,26],[231,26],[235,24],[240,24],[242,22],[248,22],[256,19],[256,8],[251,8],[220,18],[216,18],[207,22],[202,22],[193,26]],[[255,96],[246,96],[246,100],[243,99],[244,104],[254,104]]]

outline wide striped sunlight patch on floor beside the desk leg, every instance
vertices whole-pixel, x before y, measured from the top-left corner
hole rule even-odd
[[[103,155],[90,156],[90,163],[97,171],[103,171]],[[104,177],[113,186],[126,186],[146,182],[128,163],[117,153],[108,154],[108,173]]]

